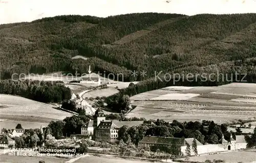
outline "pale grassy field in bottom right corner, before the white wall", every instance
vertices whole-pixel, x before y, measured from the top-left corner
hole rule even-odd
[[[185,158],[182,158],[184,160]],[[250,151],[232,151],[226,153],[219,154],[211,154],[211,155],[202,155],[202,156],[194,156],[189,157],[189,161],[199,161],[205,162],[205,160],[224,160],[225,162],[255,162],[256,155],[255,152]]]

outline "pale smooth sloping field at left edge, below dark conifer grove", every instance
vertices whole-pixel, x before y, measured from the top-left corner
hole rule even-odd
[[[54,105],[22,97],[0,94],[0,99],[0,119],[3,120],[0,122],[0,128],[6,125],[13,127],[17,121],[28,128],[37,128],[40,125],[45,126],[50,121],[72,116],[71,113],[55,109]]]

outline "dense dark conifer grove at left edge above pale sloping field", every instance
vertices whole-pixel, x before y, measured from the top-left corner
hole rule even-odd
[[[18,95],[45,103],[71,99],[70,88],[61,82],[0,80],[0,94]]]

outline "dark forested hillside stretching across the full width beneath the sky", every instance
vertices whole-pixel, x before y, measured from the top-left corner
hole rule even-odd
[[[122,73],[126,81],[154,77],[155,71],[218,70],[249,72],[249,82],[254,82],[255,41],[256,14],[56,16],[0,25],[1,79],[13,73],[74,72],[76,68],[82,74],[91,65],[94,72]],[[76,55],[88,60],[72,60]],[[147,76],[133,77],[134,70],[144,70]]]

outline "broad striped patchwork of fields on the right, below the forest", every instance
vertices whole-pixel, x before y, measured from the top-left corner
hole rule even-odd
[[[147,91],[131,97],[132,105],[137,107],[126,117],[165,121],[214,120],[217,123],[254,120],[256,106],[248,101],[253,101],[253,96],[256,96],[256,93],[253,94],[256,92],[255,86],[250,83],[231,83],[214,87],[172,86]],[[246,92],[242,91],[244,89]]]

